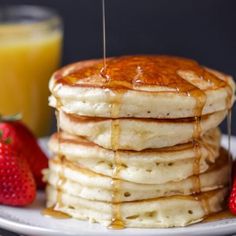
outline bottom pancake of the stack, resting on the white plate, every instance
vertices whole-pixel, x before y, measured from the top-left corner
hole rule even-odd
[[[228,189],[222,188],[193,196],[172,196],[120,204],[121,220],[126,227],[154,228],[186,226],[224,209]],[[48,185],[47,206],[90,222],[111,224],[114,205],[90,201],[57,191]],[[58,202],[60,199],[60,202]]]

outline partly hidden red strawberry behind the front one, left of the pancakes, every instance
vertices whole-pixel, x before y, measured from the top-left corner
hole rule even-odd
[[[33,133],[18,120],[19,117],[2,117],[0,132],[3,139],[10,139],[11,146],[27,159],[39,189],[44,188],[42,170],[48,167],[48,158],[39,147]]]

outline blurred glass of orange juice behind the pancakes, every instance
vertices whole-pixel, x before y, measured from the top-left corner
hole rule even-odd
[[[22,113],[37,135],[47,135],[52,113],[48,81],[62,48],[59,16],[44,7],[0,8],[0,114]]]

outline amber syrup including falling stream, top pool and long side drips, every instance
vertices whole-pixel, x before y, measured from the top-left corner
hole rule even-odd
[[[105,21],[105,2],[103,0],[103,19]],[[105,24],[103,24],[103,30],[105,31]],[[105,33],[103,32],[103,37],[105,39]],[[228,88],[226,96],[226,104],[228,107],[231,106],[232,90],[223,80],[218,79],[213,73],[206,71],[201,68],[195,61],[180,59],[168,56],[126,56],[115,59],[106,59],[106,48],[105,40],[103,41],[103,63],[97,62],[97,64],[82,68],[79,71],[73,72],[67,77],[58,77],[57,83],[61,82],[64,84],[70,84],[72,86],[89,86],[89,87],[103,87],[111,89],[115,94],[115,100],[120,100],[122,97],[120,90],[123,92],[126,90],[137,90],[138,86],[164,86],[175,88],[181,94],[187,94],[195,99],[195,124],[193,129],[193,150],[195,152],[195,161],[193,164],[193,173],[195,177],[193,178],[193,189],[195,193],[201,192],[201,184],[199,179],[200,170],[200,160],[201,160],[201,150],[199,145],[199,138],[202,133],[201,128],[201,117],[202,111],[206,103],[206,95],[204,90],[197,88],[192,83],[186,81],[181,76],[178,75],[177,71],[190,70],[205,81],[212,84],[212,89],[217,89],[219,87]],[[138,69],[137,69],[138,68]],[[96,80],[96,76],[99,75],[106,78],[106,82],[102,83]],[[71,80],[71,78],[74,78]],[[87,80],[87,78],[90,78]],[[93,78],[95,80],[93,81]],[[158,78],[158,79],[157,79]],[[88,82],[89,81],[89,82]],[[74,83],[76,82],[76,83]],[[122,93],[123,93],[122,92]],[[112,102],[111,117],[119,117],[120,111],[120,101]],[[229,120],[230,123],[230,120]],[[230,127],[230,125],[228,126]],[[115,151],[115,161],[114,161],[114,172],[112,181],[112,222],[110,227],[113,229],[121,229],[124,227],[124,222],[122,221],[121,211],[120,211],[120,200],[121,200],[121,180],[120,180],[120,170],[121,170],[121,160],[118,152],[119,148],[119,120],[112,119],[111,124],[111,144],[112,149]],[[230,132],[229,132],[230,133]],[[230,135],[229,135],[230,140]],[[228,141],[229,142],[229,141]],[[229,142],[230,149],[230,142]],[[206,214],[209,214],[210,208],[208,203],[208,195],[204,194],[203,197],[199,197],[197,200],[201,202],[202,208]]]

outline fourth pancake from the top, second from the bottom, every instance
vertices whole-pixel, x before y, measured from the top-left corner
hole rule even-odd
[[[230,179],[231,162],[227,161],[227,157],[227,152],[221,150],[221,157],[206,172],[178,182],[137,184],[121,181],[119,200],[127,202],[173,195],[191,195],[222,188],[229,184]],[[44,179],[54,188],[75,197],[113,201],[111,177],[84,169],[65,158],[50,160],[49,170],[45,171]]]

